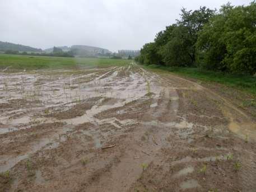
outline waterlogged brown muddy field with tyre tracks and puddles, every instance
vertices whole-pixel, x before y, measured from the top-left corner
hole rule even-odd
[[[2,72],[0,93],[0,191],[256,191],[236,93],[136,65]]]

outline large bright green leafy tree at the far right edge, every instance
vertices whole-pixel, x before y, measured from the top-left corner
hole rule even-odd
[[[256,73],[256,3],[222,6],[203,27],[197,43],[203,67],[221,71]]]

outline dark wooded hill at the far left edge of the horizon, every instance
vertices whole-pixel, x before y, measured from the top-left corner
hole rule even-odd
[[[27,52],[42,52],[43,50],[32,48],[31,46],[25,46],[20,44],[13,44],[0,41],[0,51],[14,50],[14,51],[27,51]]]

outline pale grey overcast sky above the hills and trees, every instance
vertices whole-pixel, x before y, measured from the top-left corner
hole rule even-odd
[[[0,41],[36,48],[91,45],[111,51],[140,49],[182,7],[220,8],[225,0],[0,0]],[[234,5],[251,1],[229,1]]]

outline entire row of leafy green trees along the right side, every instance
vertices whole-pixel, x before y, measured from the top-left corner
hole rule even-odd
[[[142,64],[199,67],[232,73],[256,73],[256,3],[181,10],[180,19],[141,49]]]

